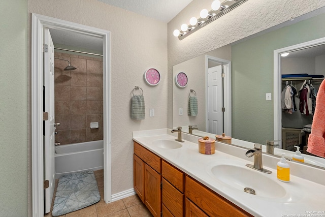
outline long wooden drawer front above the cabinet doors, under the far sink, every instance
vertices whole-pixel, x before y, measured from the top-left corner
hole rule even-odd
[[[161,174],[161,160],[156,156],[156,154],[152,153],[137,142],[134,142],[134,153],[152,169]]]

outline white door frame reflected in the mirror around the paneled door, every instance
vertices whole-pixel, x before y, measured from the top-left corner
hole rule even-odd
[[[231,61],[226,59],[217,58],[210,55],[205,55],[205,76],[206,76],[206,87],[208,84],[208,67],[209,61],[215,61],[216,63],[223,65],[223,73],[225,77],[223,78],[223,104],[225,107],[225,112],[223,113],[223,128],[224,133],[228,136],[232,136],[232,92],[231,92]],[[206,108],[208,106],[208,92],[205,88],[206,96]],[[207,109],[206,109],[207,112]],[[208,114],[206,113],[206,129],[208,129]]]

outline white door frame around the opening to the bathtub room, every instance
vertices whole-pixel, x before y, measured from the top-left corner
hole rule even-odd
[[[111,190],[111,90],[110,32],[39,14],[31,21],[31,179],[32,216],[44,215],[43,172],[43,30],[56,28],[103,39],[104,200],[112,202]]]

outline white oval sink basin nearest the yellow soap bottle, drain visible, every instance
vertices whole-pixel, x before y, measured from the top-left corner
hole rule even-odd
[[[281,198],[286,190],[274,176],[245,166],[219,164],[211,167],[212,175],[228,187],[264,198]],[[269,177],[268,177],[269,176]]]

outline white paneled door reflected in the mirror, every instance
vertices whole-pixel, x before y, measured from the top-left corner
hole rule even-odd
[[[208,132],[221,135],[223,133],[222,66],[209,68],[207,79]]]

